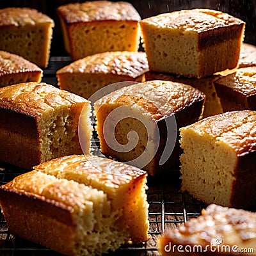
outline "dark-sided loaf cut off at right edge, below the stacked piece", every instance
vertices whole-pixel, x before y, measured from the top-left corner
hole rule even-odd
[[[238,68],[214,81],[214,85],[223,111],[256,110],[256,66]]]

